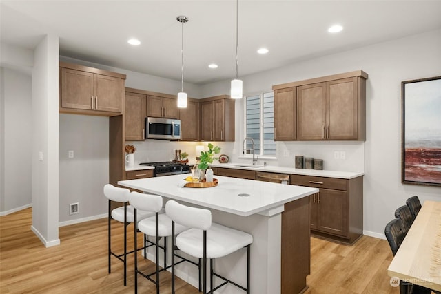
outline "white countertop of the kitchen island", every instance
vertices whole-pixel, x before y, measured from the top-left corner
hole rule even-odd
[[[216,176],[218,179],[216,187],[178,187],[178,184],[189,175],[179,174],[157,178],[121,180],[118,184],[174,200],[201,205],[209,209],[234,213],[239,216],[251,216],[255,213],[271,216],[274,213],[283,211],[280,210],[280,207],[283,207],[283,204],[287,202],[318,193],[316,188],[224,176]],[[249,196],[238,196],[240,193],[247,193]],[[276,209],[276,211],[271,212],[271,209]]]

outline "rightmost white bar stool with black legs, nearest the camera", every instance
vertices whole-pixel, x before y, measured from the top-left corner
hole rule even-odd
[[[210,260],[210,292],[224,286],[233,284],[249,294],[249,268],[250,268],[250,245],[253,236],[243,231],[231,229],[221,224],[212,222],[212,212],[208,209],[187,207],[170,200],[165,204],[165,212],[172,219],[172,235],[176,224],[182,224],[191,229],[183,231],[176,236],[176,249],[192,255],[195,258],[203,259],[203,293],[207,293],[207,258]],[[247,287],[240,286],[225,277],[214,273],[213,259],[221,258],[247,248]],[[175,249],[175,240],[172,238],[172,249]],[[174,294],[174,250],[172,250],[172,293]],[[213,288],[213,277],[220,277],[224,280],[222,284]]]

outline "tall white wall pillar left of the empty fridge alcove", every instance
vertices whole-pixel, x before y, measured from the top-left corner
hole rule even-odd
[[[46,35],[32,68],[32,231],[59,244],[59,39]],[[41,154],[41,158],[40,158]]]

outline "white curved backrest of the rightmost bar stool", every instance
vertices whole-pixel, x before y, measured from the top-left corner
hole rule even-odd
[[[208,209],[188,207],[174,200],[169,200],[165,204],[165,213],[174,222],[185,227],[204,231],[212,227],[212,211]]]

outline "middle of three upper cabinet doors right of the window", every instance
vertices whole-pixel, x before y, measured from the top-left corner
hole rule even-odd
[[[297,88],[298,140],[324,140],[326,132],[326,85]]]

